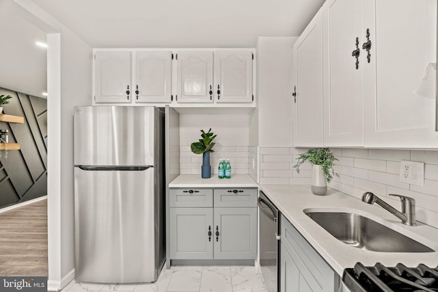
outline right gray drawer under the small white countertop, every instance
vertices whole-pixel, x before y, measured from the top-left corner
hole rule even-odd
[[[257,189],[214,189],[214,207],[257,207]]]

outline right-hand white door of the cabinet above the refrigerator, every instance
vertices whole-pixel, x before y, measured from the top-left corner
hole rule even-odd
[[[133,87],[136,103],[170,103],[172,52],[136,51],[136,77]]]

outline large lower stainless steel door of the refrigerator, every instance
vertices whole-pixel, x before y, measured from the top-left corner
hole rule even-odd
[[[157,280],[164,196],[156,168],[142,171],[75,168],[75,265],[79,282]]]

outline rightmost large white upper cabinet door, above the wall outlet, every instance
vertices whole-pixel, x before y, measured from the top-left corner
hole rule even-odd
[[[434,82],[422,82],[436,72],[437,1],[365,3],[372,42],[364,64],[365,146],[437,148]]]

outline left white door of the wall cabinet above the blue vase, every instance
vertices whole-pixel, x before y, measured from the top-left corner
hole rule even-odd
[[[178,103],[213,103],[213,52],[179,51],[177,66]]]

